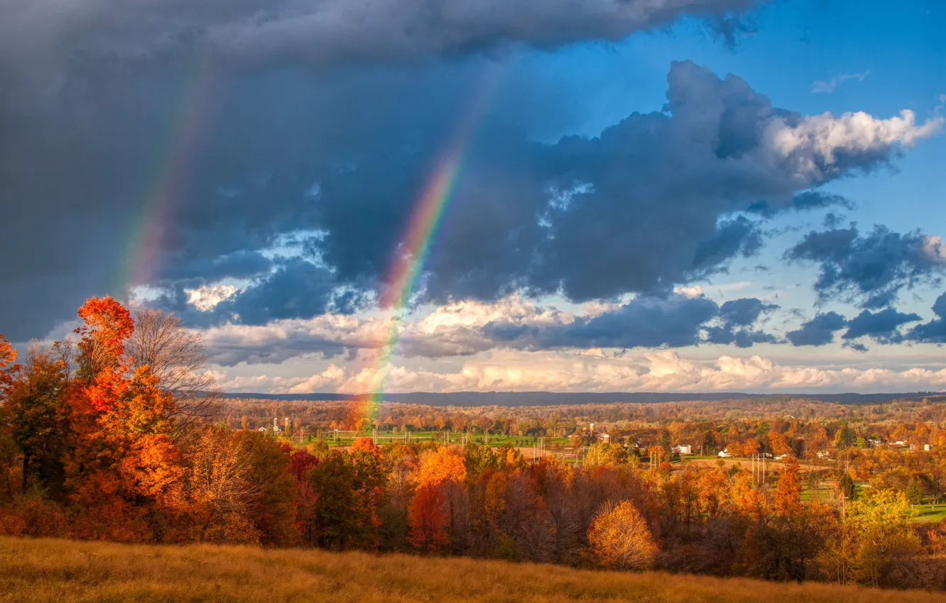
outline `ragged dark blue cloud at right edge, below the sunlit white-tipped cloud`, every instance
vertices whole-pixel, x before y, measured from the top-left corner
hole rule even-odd
[[[937,284],[946,268],[937,237],[893,233],[883,226],[864,235],[853,226],[813,231],[785,257],[818,267],[815,291],[821,300],[857,302],[871,309],[895,302],[904,288]]]

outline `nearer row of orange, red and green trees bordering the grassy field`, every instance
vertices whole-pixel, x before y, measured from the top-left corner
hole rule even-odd
[[[946,585],[946,528],[917,529],[893,485],[858,496],[850,473],[835,474],[825,501],[803,502],[802,482],[825,475],[791,457],[768,474],[674,468],[669,426],[646,467],[604,442],[580,467],[476,444],[299,447],[215,422],[200,341],[173,317],[132,317],[109,298],[79,317],[75,343],[21,362],[0,338],[2,533]]]

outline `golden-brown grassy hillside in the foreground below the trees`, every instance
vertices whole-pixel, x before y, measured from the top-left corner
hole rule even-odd
[[[0,539],[9,601],[863,601],[946,595],[468,559]]]

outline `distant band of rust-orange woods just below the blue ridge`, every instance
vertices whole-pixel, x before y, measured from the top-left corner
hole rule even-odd
[[[704,405],[579,405],[498,407],[438,407],[387,403],[377,418],[364,415],[364,405],[352,402],[301,402],[227,399],[222,420],[234,429],[272,426],[273,418],[289,418],[294,433],[308,436],[336,428],[369,434],[404,431],[449,431],[521,438],[571,437],[575,445],[607,433],[612,441],[647,448],[665,442],[689,444],[715,454],[731,448],[733,456],[781,455],[816,459],[837,449],[906,441],[946,447],[946,405],[937,402],[897,402],[887,405],[844,406],[810,401],[707,402]],[[592,431],[591,423],[596,425]],[[668,446],[669,447],[669,446]],[[745,454],[744,454],[745,453]]]

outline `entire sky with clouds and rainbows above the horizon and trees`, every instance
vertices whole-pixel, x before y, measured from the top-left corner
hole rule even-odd
[[[934,0],[0,0],[0,334],[227,391],[946,389]]]

